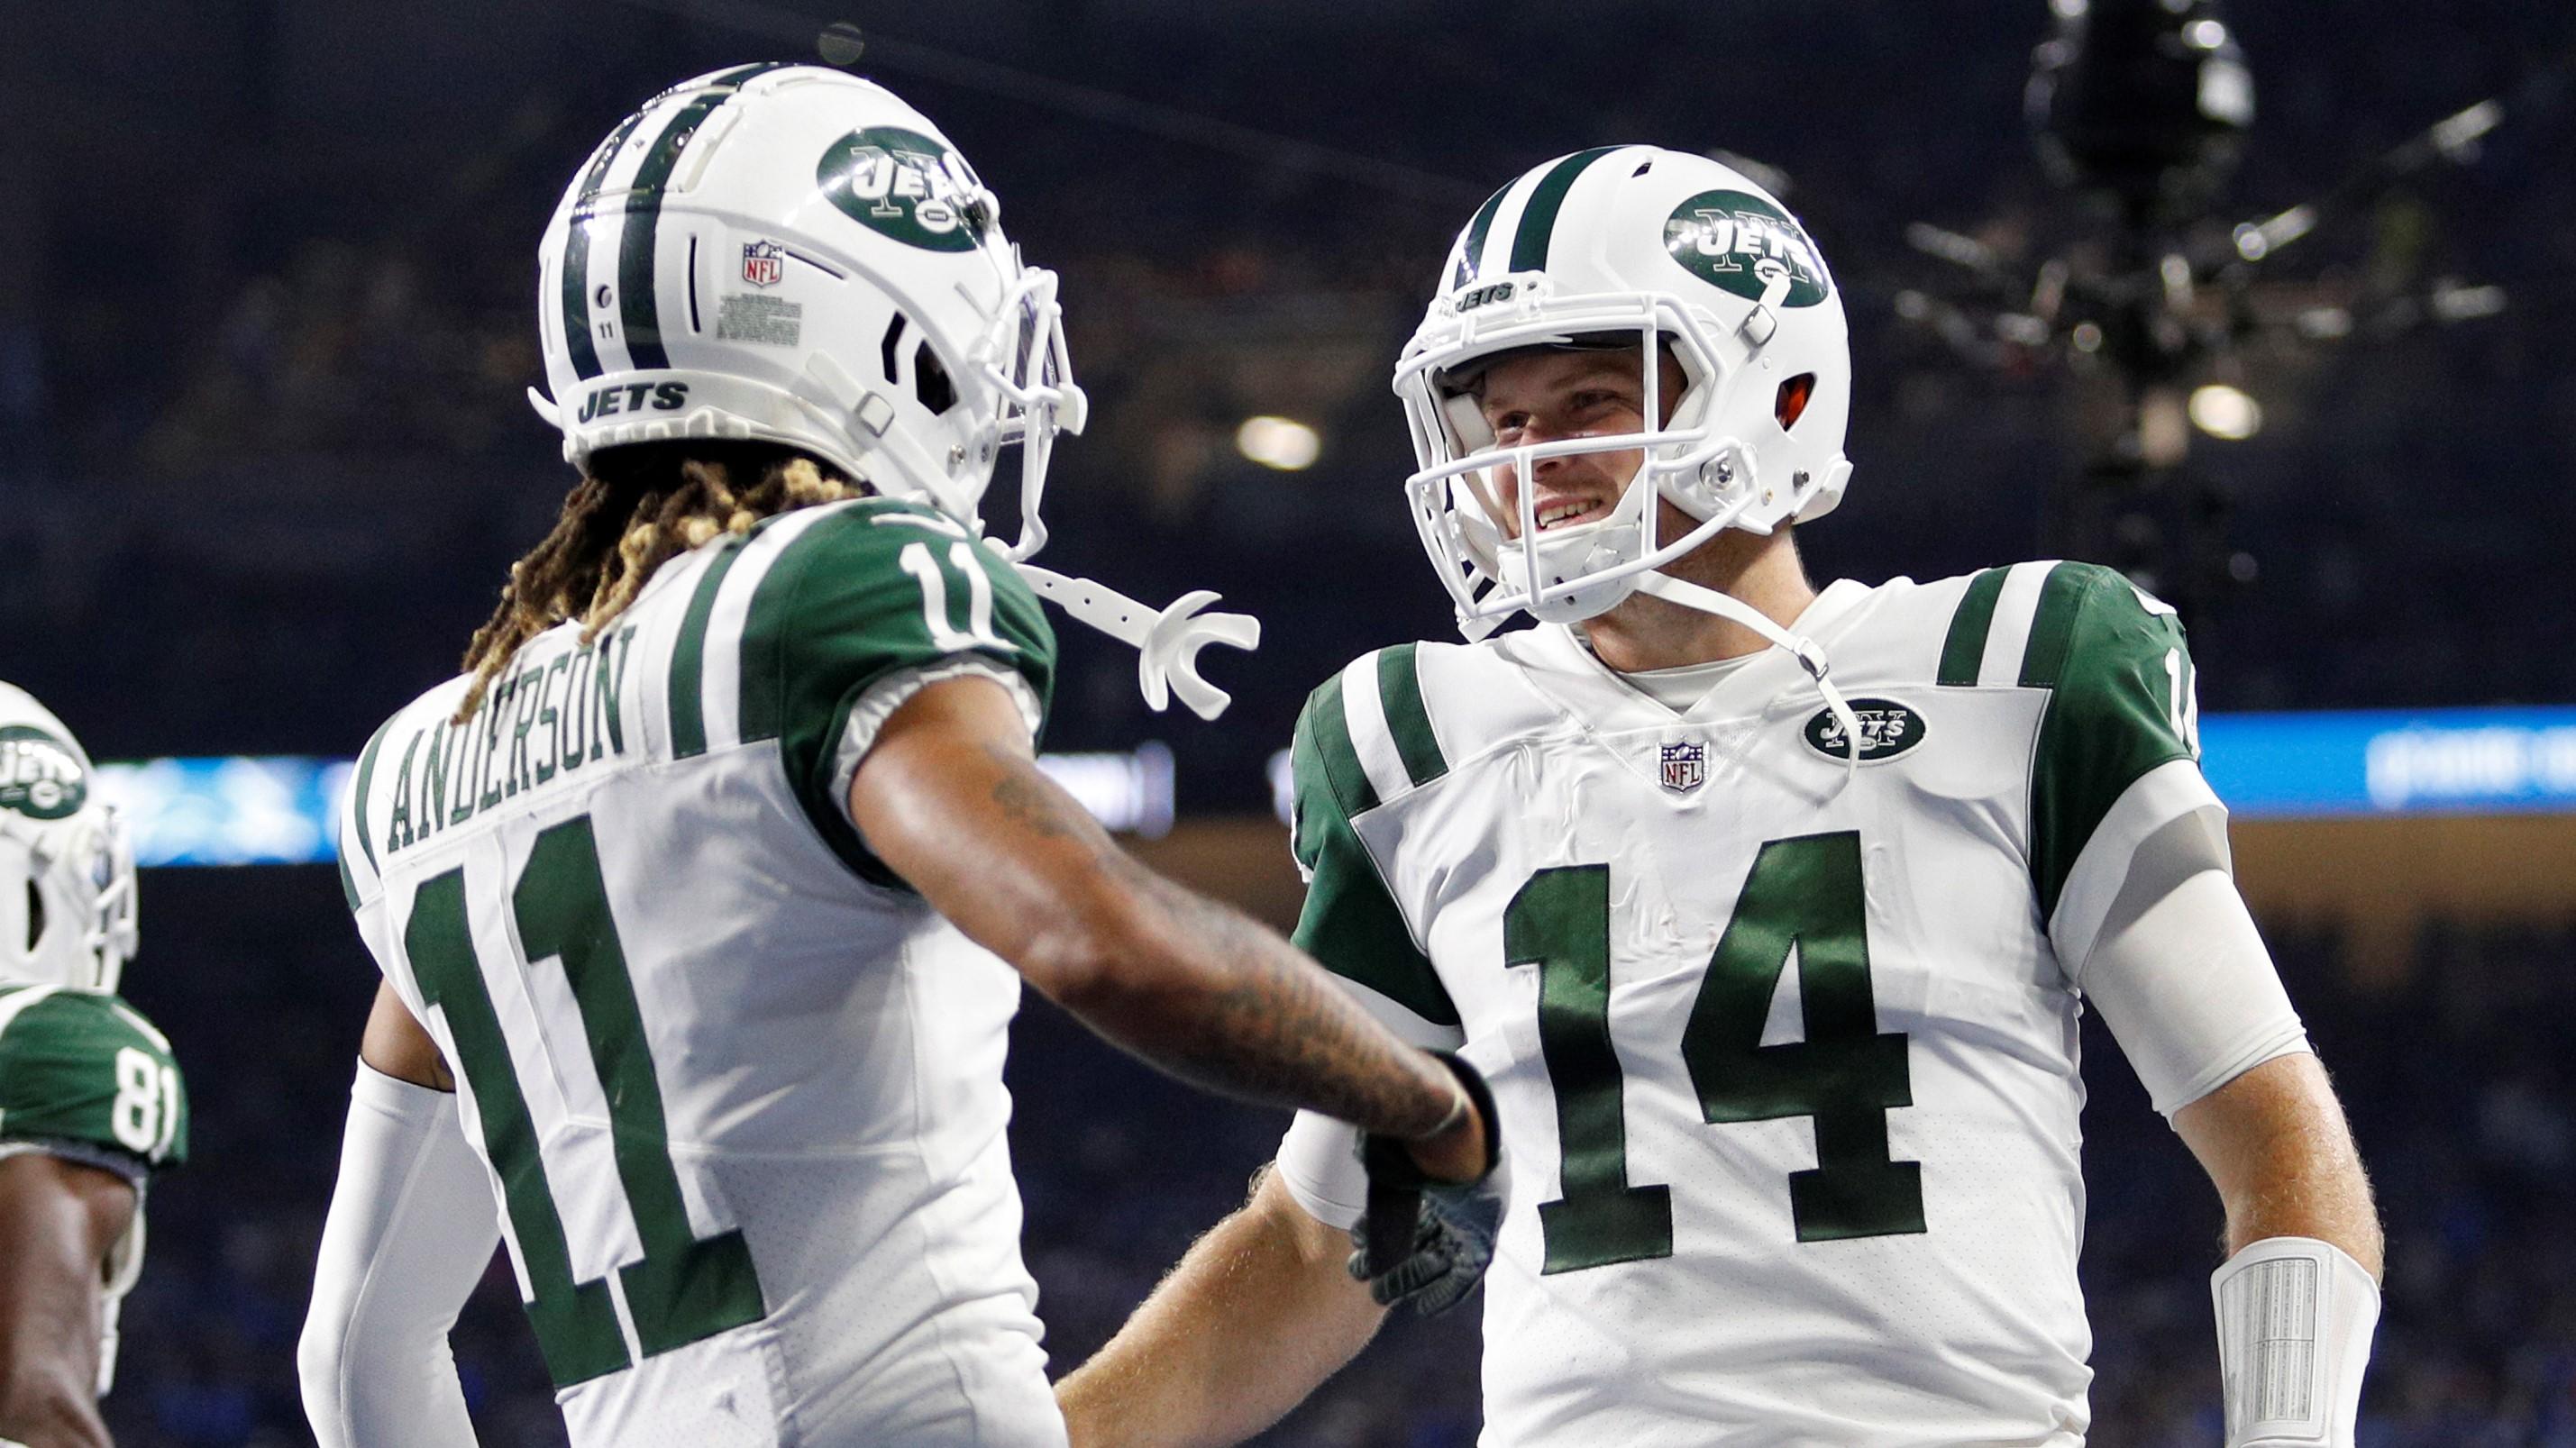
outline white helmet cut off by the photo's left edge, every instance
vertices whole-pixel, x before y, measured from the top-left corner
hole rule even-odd
[[[116,989],[134,958],[134,848],[90,755],[0,683],[0,984]]]

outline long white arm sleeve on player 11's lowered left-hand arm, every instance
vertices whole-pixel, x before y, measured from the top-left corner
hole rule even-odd
[[[456,1098],[358,1064],[296,1342],[322,1448],[471,1448],[448,1329],[500,1247]]]

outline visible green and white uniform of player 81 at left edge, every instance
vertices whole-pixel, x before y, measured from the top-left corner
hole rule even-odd
[[[170,1038],[100,989],[0,984],[0,1159],[44,1152],[134,1183],[108,1250],[98,1391],[116,1381],[116,1309],[144,1270],[144,1188],[188,1159],[188,1090]]]

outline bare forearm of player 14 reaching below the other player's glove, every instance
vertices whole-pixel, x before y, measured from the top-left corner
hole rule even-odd
[[[1350,1234],[1265,1172],[1118,1337],[1056,1384],[1074,1448],[1242,1443],[1278,1422],[1386,1319],[1345,1257]]]

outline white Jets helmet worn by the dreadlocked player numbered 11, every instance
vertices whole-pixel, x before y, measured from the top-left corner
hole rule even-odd
[[[670,438],[804,448],[981,531],[1020,443],[1025,559],[1056,433],[1079,433],[1056,276],[894,93],[742,64],[644,103],[590,155],[538,245],[564,459]]]

